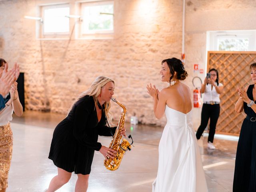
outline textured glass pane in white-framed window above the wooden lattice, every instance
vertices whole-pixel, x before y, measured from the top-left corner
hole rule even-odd
[[[248,51],[249,39],[248,38],[219,38],[218,50],[219,51]]]

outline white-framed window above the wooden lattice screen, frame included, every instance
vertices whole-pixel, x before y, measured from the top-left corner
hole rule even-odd
[[[207,50],[255,51],[256,30],[207,32]]]

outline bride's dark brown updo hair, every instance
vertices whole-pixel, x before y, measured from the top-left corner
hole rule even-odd
[[[170,82],[172,78],[174,78],[174,72],[176,71],[176,78],[178,80],[184,80],[188,76],[188,73],[186,72],[184,65],[182,64],[182,61],[177,58],[170,58],[170,59],[164,59],[162,61],[162,64],[166,62],[171,73]]]

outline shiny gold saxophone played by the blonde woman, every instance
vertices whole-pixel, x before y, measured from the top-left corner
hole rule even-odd
[[[116,132],[113,136],[113,139],[109,145],[110,149],[116,151],[116,156],[114,158],[108,158],[108,160],[104,160],[104,166],[111,171],[117,170],[120,166],[122,158],[127,150],[131,150],[131,145],[126,139],[122,139],[121,131],[124,128],[124,116],[126,114],[126,108],[124,105],[120,104],[116,101],[116,99],[111,98],[114,102],[116,102],[120,107],[123,108],[122,115],[119,119],[118,126],[116,128]],[[129,136],[131,138],[131,136]],[[133,143],[133,142],[132,142]]]

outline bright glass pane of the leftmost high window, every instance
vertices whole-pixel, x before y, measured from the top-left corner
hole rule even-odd
[[[44,33],[69,32],[69,7],[44,10]]]

